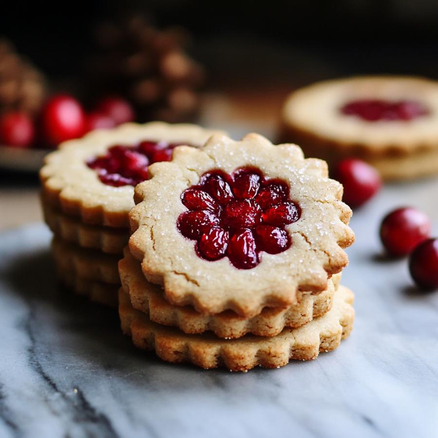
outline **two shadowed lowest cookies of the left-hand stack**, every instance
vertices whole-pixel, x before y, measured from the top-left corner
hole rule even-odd
[[[119,256],[81,248],[59,237],[52,240],[52,253],[58,278],[73,292],[117,307]]]

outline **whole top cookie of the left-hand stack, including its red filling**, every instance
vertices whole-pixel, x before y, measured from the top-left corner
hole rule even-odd
[[[214,132],[162,122],[93,131],[46,157],[40,171],[44,198],[82,222],[127,227],[133,185],[147,178],[147,165],[169,159],[176,144],[202,146]]]

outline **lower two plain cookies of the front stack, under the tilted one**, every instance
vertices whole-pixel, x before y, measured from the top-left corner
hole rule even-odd
[[[230,310],[207,315],[168,303],[128,250],[119,262],[119,272],[123,332],[132,336],[136,347],[155,350],[168,362],[224,366],[232,371],[256,365],[279,367],[291,359],[310,360],[320,351],[334,350],[353,326],[354,295],[339,286],[340,274],[333,276],[327,290],[303,293],[288,309],[265,308],[246,319]]]

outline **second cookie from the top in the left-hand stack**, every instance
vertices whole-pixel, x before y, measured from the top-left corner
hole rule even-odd
[[[49,228],[63,240],[83,248],[91,248],[108,254],[122,254],[128,244],[127,228],[87,225],[78,218],[60,213],[42,200],[44,220]]]

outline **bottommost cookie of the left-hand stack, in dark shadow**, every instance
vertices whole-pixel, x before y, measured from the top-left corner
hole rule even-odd
[[[86,296],[90,301],[116,308],[119,286],[90,281],[78,277],[74,272],[57,269],[59,280],[78,295]]]

